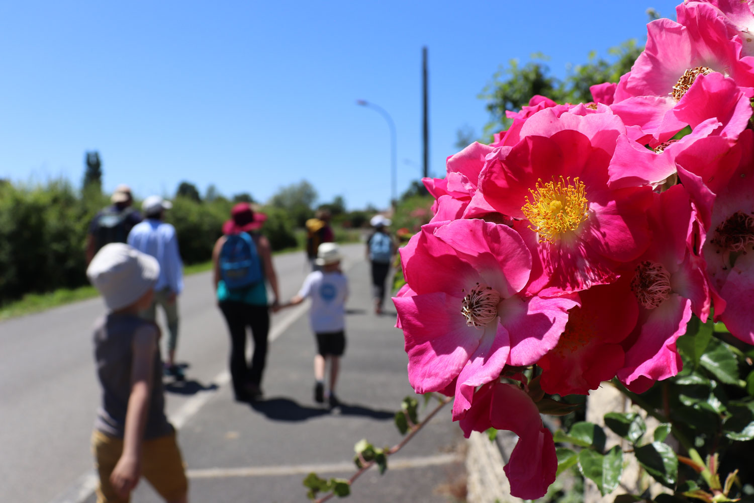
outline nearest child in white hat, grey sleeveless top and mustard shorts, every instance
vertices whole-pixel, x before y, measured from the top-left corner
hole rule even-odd
[[[106,244],[87,268],[107,312],[94,325],[102,402],[92,434],[97,503],[124,503],[139,478],[168,503],[188,501],[176,432],[164,412],[160,329],[139,312],[152,303],[160,265],[122,243]]]

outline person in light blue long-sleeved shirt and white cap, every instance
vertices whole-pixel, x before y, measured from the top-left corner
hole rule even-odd
[[[149,321],[157,321],[160,305],[167,318],[167,357],[164,373],[182,381],[183,370],[176,365],[178,346],[178,296],[183,290],[183,262],[178,249],[176,228],[164,222],[165,211],[173,204],[158,195],[150,195],[142,204],[146,220],[136,224],[128,235],[128,244],[151,255],[160,264],[160,277],[155,285],[155,299],[143,313]]]

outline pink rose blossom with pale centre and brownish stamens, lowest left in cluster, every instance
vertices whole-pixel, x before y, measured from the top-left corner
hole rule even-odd
[[[460,219],[425,225],[401,250],[409,288],[394,297],[417,393],[458,379],[454,416],[474,388],[497,379],[506,363],[529,365],[556,345],[578,301],[517,293],[532,256],[506,225]]]

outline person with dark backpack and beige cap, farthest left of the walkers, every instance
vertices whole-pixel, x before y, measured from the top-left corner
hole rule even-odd
[[[127,185],[115,188],[110,198],[112,205],[100,210],[89,224],[87,232],[87,265],[100,248],[108,243],[125,243],[134,225],[142,221],[134,210],[131,189]]]

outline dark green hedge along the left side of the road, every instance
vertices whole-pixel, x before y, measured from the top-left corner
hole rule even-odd
[[[87,230],[97,211],[108,204],[97,186],[81,192],[65,180],[35,186],[0,183],[0,305],[26,293],[87,284]],[[210,260],[232,205],[224,198],[173,199],[167,221],[176,227],[185,264]],[[268,215],[262,232],[272,249],[295,247],[293,222],[284,210],[262,211]]]

